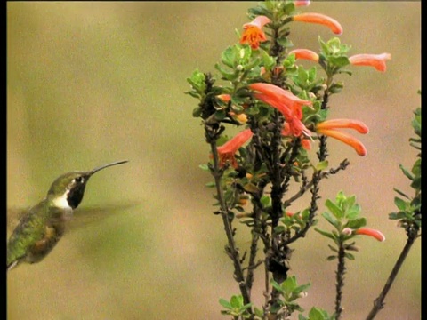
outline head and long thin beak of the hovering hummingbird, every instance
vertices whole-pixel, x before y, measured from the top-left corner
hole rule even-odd
[[[82,202],[83,196],[85,194],[86,183],[89,178],[92,177],[93,173],[99,172],[102,169],[108,168],[112,165],[125,164],[127,162],[127,160],[117,161],[112,164],[101,165],[88,172],[76,171],[62,174],[53,181],[47,196],[62,198],[67,201],[68,206],[70,206],[72,209],[76,209],[78,204]]]

